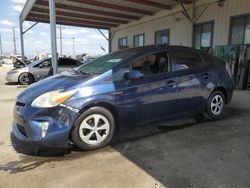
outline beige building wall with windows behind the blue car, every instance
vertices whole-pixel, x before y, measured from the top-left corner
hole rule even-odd
[[[217,6],[214,0],[200,0],[195,6],[196,15],[205,3],[209,6],[195,23],[214,21],[213,46],[228,44],[230,17],[250,13],[250,0],[226,0],[223,7]],[[139,21],[112,28],[111,51],[118,50],[118,39],[121,37],[128,37],[128,46],[133,47],[133,36],[140,33],[145,34],[145,45],[154,44],[155,31],[163,29],[170,29],[171,45],[192,46],[193,23],[180,10],[176,7],[171,11],[159,11],[154,16],[145,16]]]

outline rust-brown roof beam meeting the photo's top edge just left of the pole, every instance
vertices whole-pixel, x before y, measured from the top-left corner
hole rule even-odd
[[[47,9],[49,7],[48,1],[44,1],[44,0],[37,0],[35,5],[40,5],[40,6],[43,6],[44,8],[47,8]],[[56,3],[56,10],[57,9],[74,11],[74,12],[79,12],[79,13],[85,12],[85,13],[91,13],[91,14],[95,14],[95,15],[122,18],[122,19],[126,19],[126,20],[139,20],[140,19],[139,16],[132,16],[132,15],[121,14],[121,13],[107,12],[107,11],[95,10],[95,9],[90,9],[90,8],[83,8],[83,7],[79,7],[79,6],[60,4],[60,3]]]

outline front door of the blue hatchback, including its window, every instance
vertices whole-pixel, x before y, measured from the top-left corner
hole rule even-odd
[[[129,81],[124,90],[124,106],[132,120],[146,123],[179,112],[178,84],[168,51],[146,54],[132,63],[132,69],[144,74]]]

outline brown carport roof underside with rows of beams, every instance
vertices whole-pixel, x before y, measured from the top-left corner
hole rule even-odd
[[[32,5],[29,2],[21,18],[49,23],[48,0],[33,0]],[[176,4],[177,0],[56,0],[56,20],[62,25],[109,29],[154,15],[162,9],[170,10]]]

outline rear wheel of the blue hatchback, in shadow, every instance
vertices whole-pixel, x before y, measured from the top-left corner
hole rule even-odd
[[[214,91],[207,100],[205,118],[219,120],[224,115],[225,96],[221,91]]]

